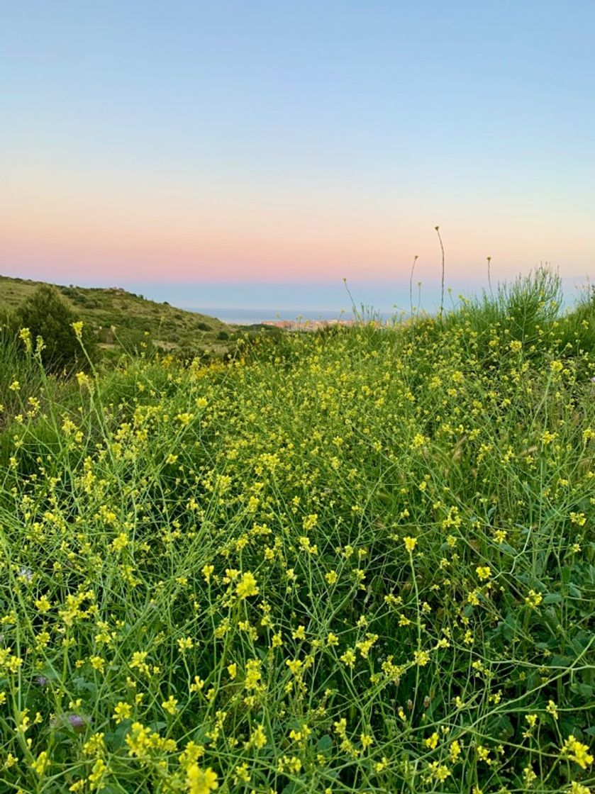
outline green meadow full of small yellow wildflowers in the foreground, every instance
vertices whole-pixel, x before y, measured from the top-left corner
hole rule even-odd
[[[588,794],[590,296],[68,384],[35,347],[3,337],[2,792]]]

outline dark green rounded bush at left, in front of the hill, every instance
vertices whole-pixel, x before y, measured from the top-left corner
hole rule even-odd
[[[35,346],[37,337],[44,341],[41,360],[48,372],[71,372],[75,368],[86,368],[88,360],[72,323],[79,318],[64,301],[56,287],[42,284],[33,295],[14,312],[14,326],[28,328]],[[83,326],[83,345],[92,358],[95,353],[95,337]]]

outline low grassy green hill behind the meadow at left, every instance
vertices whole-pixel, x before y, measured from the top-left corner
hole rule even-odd
[[[43,282],[0,276],[0,314],[13,311]],[[230,326],[207,314],[156,303],[120,287],[56,288],[72,310],[95,331],[99,344],[109,353],[137,348],[147,335],[163,350],[225,354],[242,326]]]

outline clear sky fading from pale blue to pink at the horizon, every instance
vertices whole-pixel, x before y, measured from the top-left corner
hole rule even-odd
[[[435,225],[455,291],[595,272],[592,0],[0,11],[4,275],[386,309],[415,255],[435,290]]]

